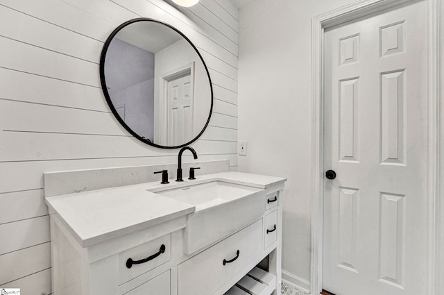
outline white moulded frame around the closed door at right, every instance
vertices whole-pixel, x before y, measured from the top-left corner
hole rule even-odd
[[[417,0],[364,0],[350,3],[323,15],[311,19],[311,85],[312,85],[312,157],[311,157],[311,262],[310,293],[322,291],[323,273],[323,72],[324,72],[324,33],[326,28],[348,22],[359,17],[366,17],[374,12]],[[444,275],[438,259],[444,253],[438,253],[438,217],[444,217],[441,205],[440,171],[444,166],[440,158],[441,118],[444,110],[441,106],[441,44],[440,44],[440,2],[426,0],[428,14],[428,233],[427,233],[427,295],[438,295],[438,275]],[[444,15],[444,12],[443,12]],[[443,29],[444,31],[444,29]],[[444,33],[444,32],[443,32]],[[444,129],[444,128],[443,128]],[[444,183],[443,183],[444,184]],[[444,192],[443,192],[444,193]],[[440,212],[440,207],[443,209]],[[444,252],[444,251],[443,251]]]

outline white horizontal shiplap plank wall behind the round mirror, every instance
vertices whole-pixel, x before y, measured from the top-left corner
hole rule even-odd
[[[159,19],[194,42],[214,112],[192,145],[200,160],[237,168],[237,13],[228,0],[0,0],[0,287],[51,293],[44,172],[176,162],[177,150],[128,134],[105,101],[99,59],[119,24]]]

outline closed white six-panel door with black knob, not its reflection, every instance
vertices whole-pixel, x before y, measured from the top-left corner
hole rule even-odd
[[[323,289],[427,283],[427,2],[325,31]]]

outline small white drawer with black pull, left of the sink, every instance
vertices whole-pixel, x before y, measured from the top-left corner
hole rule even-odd
[[[164,249],[163,253],[161,248]],[[127,262],[129,258],[132,259],[133,262],[147,260],[147,258],[151,259],[144,263],[133,264],[128,268]],[[119,253],[119,285],[136,276],[140,276],[142,273],[146,273],[146,271],[150,271],[169,260],[171,260],[170,234],[123,251]]]

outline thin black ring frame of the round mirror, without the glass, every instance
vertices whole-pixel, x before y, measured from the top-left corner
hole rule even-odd
[[[194,51],[196,51],[197,55],[199,56],[200,60],[203,63],[203,67],[205,68],[205,71],[207,72],[208,82],[210,83],[210,92],[211,92],[210,114],[208,115],[207,122],[205,123],[205,126],[203,126],[202,130],[200,130],[200,133],[198,135],[196,135],[196,137],[194,137],[194,139],[190,140],[189,142],[185,142],[184,144],[180,144],[178,146],[162,146],[162,145],[159,145],[159,144],[155,144],[155,143],[151,142],[150,140],[147,140],[147,139],[141,137],[140,135],[138,135],[137,133],[135,133],[135,131],[133,129],[131,129],[130,126],[128,126],[128,124],[126,124],[125,121],[123,121],[123,119],[121,119],[121,117],[117,113],[116,108],[114,108],[114,104],[112,103],[110,94],[108,93],[108,87],[107,87],[106,81],[105,81],[105,56],[106,56],[106,52],[108,51],[108,47],[110,46],[110,43],[111,43],[113,37],[117,33],[119,33],[119,31],[122,28],[128,26],[129,24],[133,24],[135,22],[142,22],[142,21],[155,22],[157,24],[162,24],[164,26],[167,26],[167,27],[171,28],[172,30],[176,31],[177,33],[179,33],[182,37],[185,38],[185,40],[187,40],[187,42],[191,45],[191,47],[193,47]],[[187,145],[191,144],[192,142],[195,142],[200,137],[200,135],[203,134],[203,132],[207,128],[208,124],[210,123],[211,115],[212,115],[212,112],[213,112],[213,103],[214,103],[213,85],[212,85],[212,81],[211,81],[211,77],[210,77],[210,72],[208,71],[207,65],[205,64],[205,61],[203,60],[203,58],[200,55],[200,52],[197,50],[196,46],[194,46],[194,44],[188,39],[187,36],[185,36],[177,28],[174,28],[173,26],[171,26],[169,24],[165,24],[164,22],[160,22],[160,21],[158,21],[156,19],[149,19],[149,18],[146,18],[146,17],[139,17],[139,18],[136,18],[136,19],[130,19],[128,22],[124,22],[123,24],[121,24],[120,26],[115,28],[114,31],[112,31],[111,35],[108,37],[108,39],[105,41],[105,44],[103,45],[101,57],[100,57],[100,67],[99,67],[99,70],[100,70],[100,81],[101,81],[101,86],[102,86],[103,94],[105,94],[106,102],[108,103],[108,106],[110,106],[110,109],[111,109],[112,113],[114,114],[114,117],[116,117],[117,121],[119,121],[119,123],[131,135],[136,137],[137,140],[140,140],[141,142],[144,142],[145,144],[149,144],[151,146],[155,146],[155,147],[160,148],[160,149],[178,149],[178,148],[181,148],[183,146],[187,146]]]

